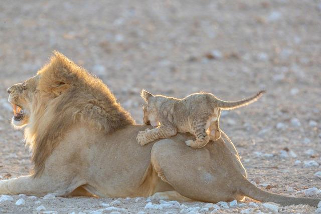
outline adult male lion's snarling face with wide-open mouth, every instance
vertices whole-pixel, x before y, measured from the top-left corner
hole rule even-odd
[[[23,127],[29,122],[32,103],[38,93],[38,81],[39,77],[35,76],[23,83],[17,83],[8,89],[8,101],[11,103],[14,112],[12,124],[17,128]]]

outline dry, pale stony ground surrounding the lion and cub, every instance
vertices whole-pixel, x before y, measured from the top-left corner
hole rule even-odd
[[[0,21],[0,179],[32,168],[23,132],[10,124],[6,89],[35,75],[58,50],[100,77],[137,123],[142,88],[174,97],[205,91],[224,100],[266,89],[258,102],[224,111],[221,128],[259,187],[321,197],[320,1],[3,0]],[[19,197],[25,204],[16,205]],[[203,202],[145,208],[149,198],[9,199],[0,202],[0,213],[273,212],[249,198],[220,209]],[[107,203],[116,208],[105,209]]]

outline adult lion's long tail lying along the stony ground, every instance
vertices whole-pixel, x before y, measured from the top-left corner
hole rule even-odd
[[[296,205],[296,204],[308,204],[311,206],[317,206],[318,202],[321,199],[315,198],[307,198],[307,197],[288,197],[280,194],[274,194],[267,191],[263,191],[262,189],[253,185],[248,179],[243,177],[243,185],[241,185],[240,191],[250,198],[254,200],[262,201],[262,202],[275,202],[279,203],[282,206],[285,205]]]

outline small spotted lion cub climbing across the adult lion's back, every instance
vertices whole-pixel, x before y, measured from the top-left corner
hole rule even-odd
[[[260,91],[244,100],[226,102],[216,98],[213,94],[204,92],[177,99],[152,95],[142,90],[141,97],[146,102],[143,107],[143,121],[157,128],[140,131],[136,140],[143,146],[160,138],[174,136],[177,132],[190,132],[195,135],[196,140],[187,140],[186,145],[202,148],[210,140],[217,140],[221,137],[219,127],[221,109],[231,110],[246,106],[255,102],[264,92]]]

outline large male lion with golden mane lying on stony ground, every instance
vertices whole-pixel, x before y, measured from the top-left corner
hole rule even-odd
[[[58,52],[35,77],[8,92],[13,124],[25,126],[35,167],[31,175],[0,181],[0,194],[154,195],[209,202],[249,196],[313,206],[319,201],[254,186],[227,136],[226,142],[219,139],[202,149],[185,145],[190,134],[141,147],[135,137],[148,126],[135,125],[99,79]]]

